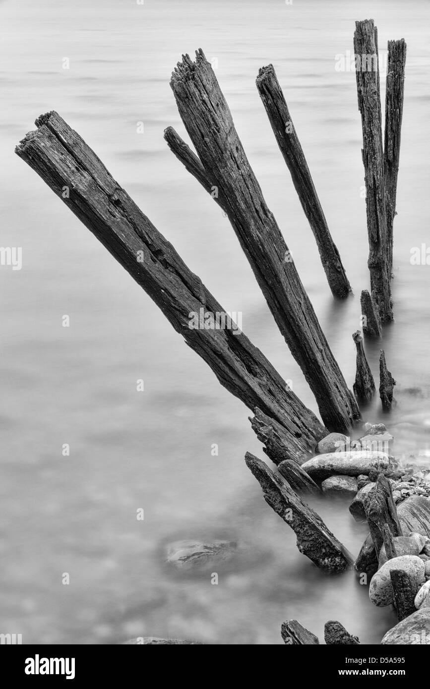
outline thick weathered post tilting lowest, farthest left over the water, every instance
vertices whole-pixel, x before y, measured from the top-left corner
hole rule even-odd
[[[56,112],[39,117],[36,124],[37,131],[23,138],[17,154],[145,289],[227,390],[250,409],[260,407],[276,419],[293,455],[314,448],[326,433],[316,416],[232,322],[205,327],[226,311],[79,134]],[[64,187],[69,195],[63,196]]]

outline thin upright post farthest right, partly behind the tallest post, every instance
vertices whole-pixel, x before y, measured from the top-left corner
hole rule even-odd
[[[393,223],[394,216],[396,215],[400,132],[402,129],[403,94],[405,91],[405,64],[405,39],[388,41],[387,87],[385,91],[384,176],[390,275],[393,269]]]

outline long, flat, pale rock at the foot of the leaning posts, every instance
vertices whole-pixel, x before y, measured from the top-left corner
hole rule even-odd
[[[359,476],[369,474],[371,471],[376,473],[389,473],[393,470],[389,455],[383,452],[330,452],[324,455],[312,457],[302,464],[302,469],[306,471],[314,481],[324,481],[326,478],[335,475]]]

